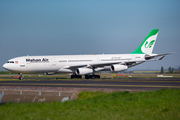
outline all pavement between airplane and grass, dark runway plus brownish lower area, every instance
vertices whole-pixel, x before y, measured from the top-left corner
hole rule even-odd
[[[179,78],[126,78],[126,79],[64,79],[13,78],[0,79],[0,104],[9,102],[52,102],[78,98],[81,91],[154,91],[180,89]]]

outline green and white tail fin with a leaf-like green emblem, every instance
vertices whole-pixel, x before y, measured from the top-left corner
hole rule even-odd
[[[152,54],[159,29],[152,29],[141,45],[131,54]]]

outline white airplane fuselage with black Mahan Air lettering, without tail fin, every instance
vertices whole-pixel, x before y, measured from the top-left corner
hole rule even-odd
[[[75,72],[77,68],[83,67],[83,65],[88,66],[91,64],[102,64],[102,66],[98,66],[96,68],[96,71],[100,71],[110,70],[110,66],[113,65],[114,62],[123,63],[127,61],[142,61],[144,59],[145,54],[22,56],[10,59],[7,63],[3,65],[3,67],[9,71],[17,73],[71,73]],[[103,65],[103,63],[110,64]],[[73,68],[73,66],[75,67]]]

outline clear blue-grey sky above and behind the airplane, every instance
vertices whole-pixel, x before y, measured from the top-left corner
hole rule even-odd
[[[131,53],[151,29],[153,53],[175,54],[131,69],[180,66],[179,0],[0,0],[0,71],[26,55]]]

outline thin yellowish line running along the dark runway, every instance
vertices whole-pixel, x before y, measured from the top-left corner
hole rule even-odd
[[[1,85],[41,85],[41,86],[109,86],[109,87],[156,87],[156,88],[180,88],[180,86],[151,86],[151,85],[106,85],[106,84],[32,84],[32,83],[2,83]]]

